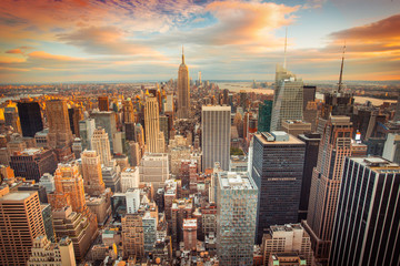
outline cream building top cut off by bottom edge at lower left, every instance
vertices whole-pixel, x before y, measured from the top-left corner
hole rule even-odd
[[[34,238],[27,266],[76,266],[72,241],[67,236],[51,243],[46,236]]]

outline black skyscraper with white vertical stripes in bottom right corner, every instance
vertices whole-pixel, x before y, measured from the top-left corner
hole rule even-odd
[[[329,265],[400,265],[399,193],[398,164],[346,158]]]

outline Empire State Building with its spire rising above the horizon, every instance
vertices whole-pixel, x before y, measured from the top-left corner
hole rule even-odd
[[[190,114],[190,85],[189,70],[184,64],[182,48],[182,63],[178,70],[178,119],[189,119]]]

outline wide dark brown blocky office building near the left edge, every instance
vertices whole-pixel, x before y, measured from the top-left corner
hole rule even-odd
[[[26,149],[10,156],[10,166],[17,176],[39,182],[44,173],[54,173],[57,168],[56,154],[51,150]]]

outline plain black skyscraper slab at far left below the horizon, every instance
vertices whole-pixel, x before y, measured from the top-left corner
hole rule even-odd
[[[17,103],[17,106],[23,136],[33,137],[37,132],[43,130],[42,116],[38,102],[21,101]]]

